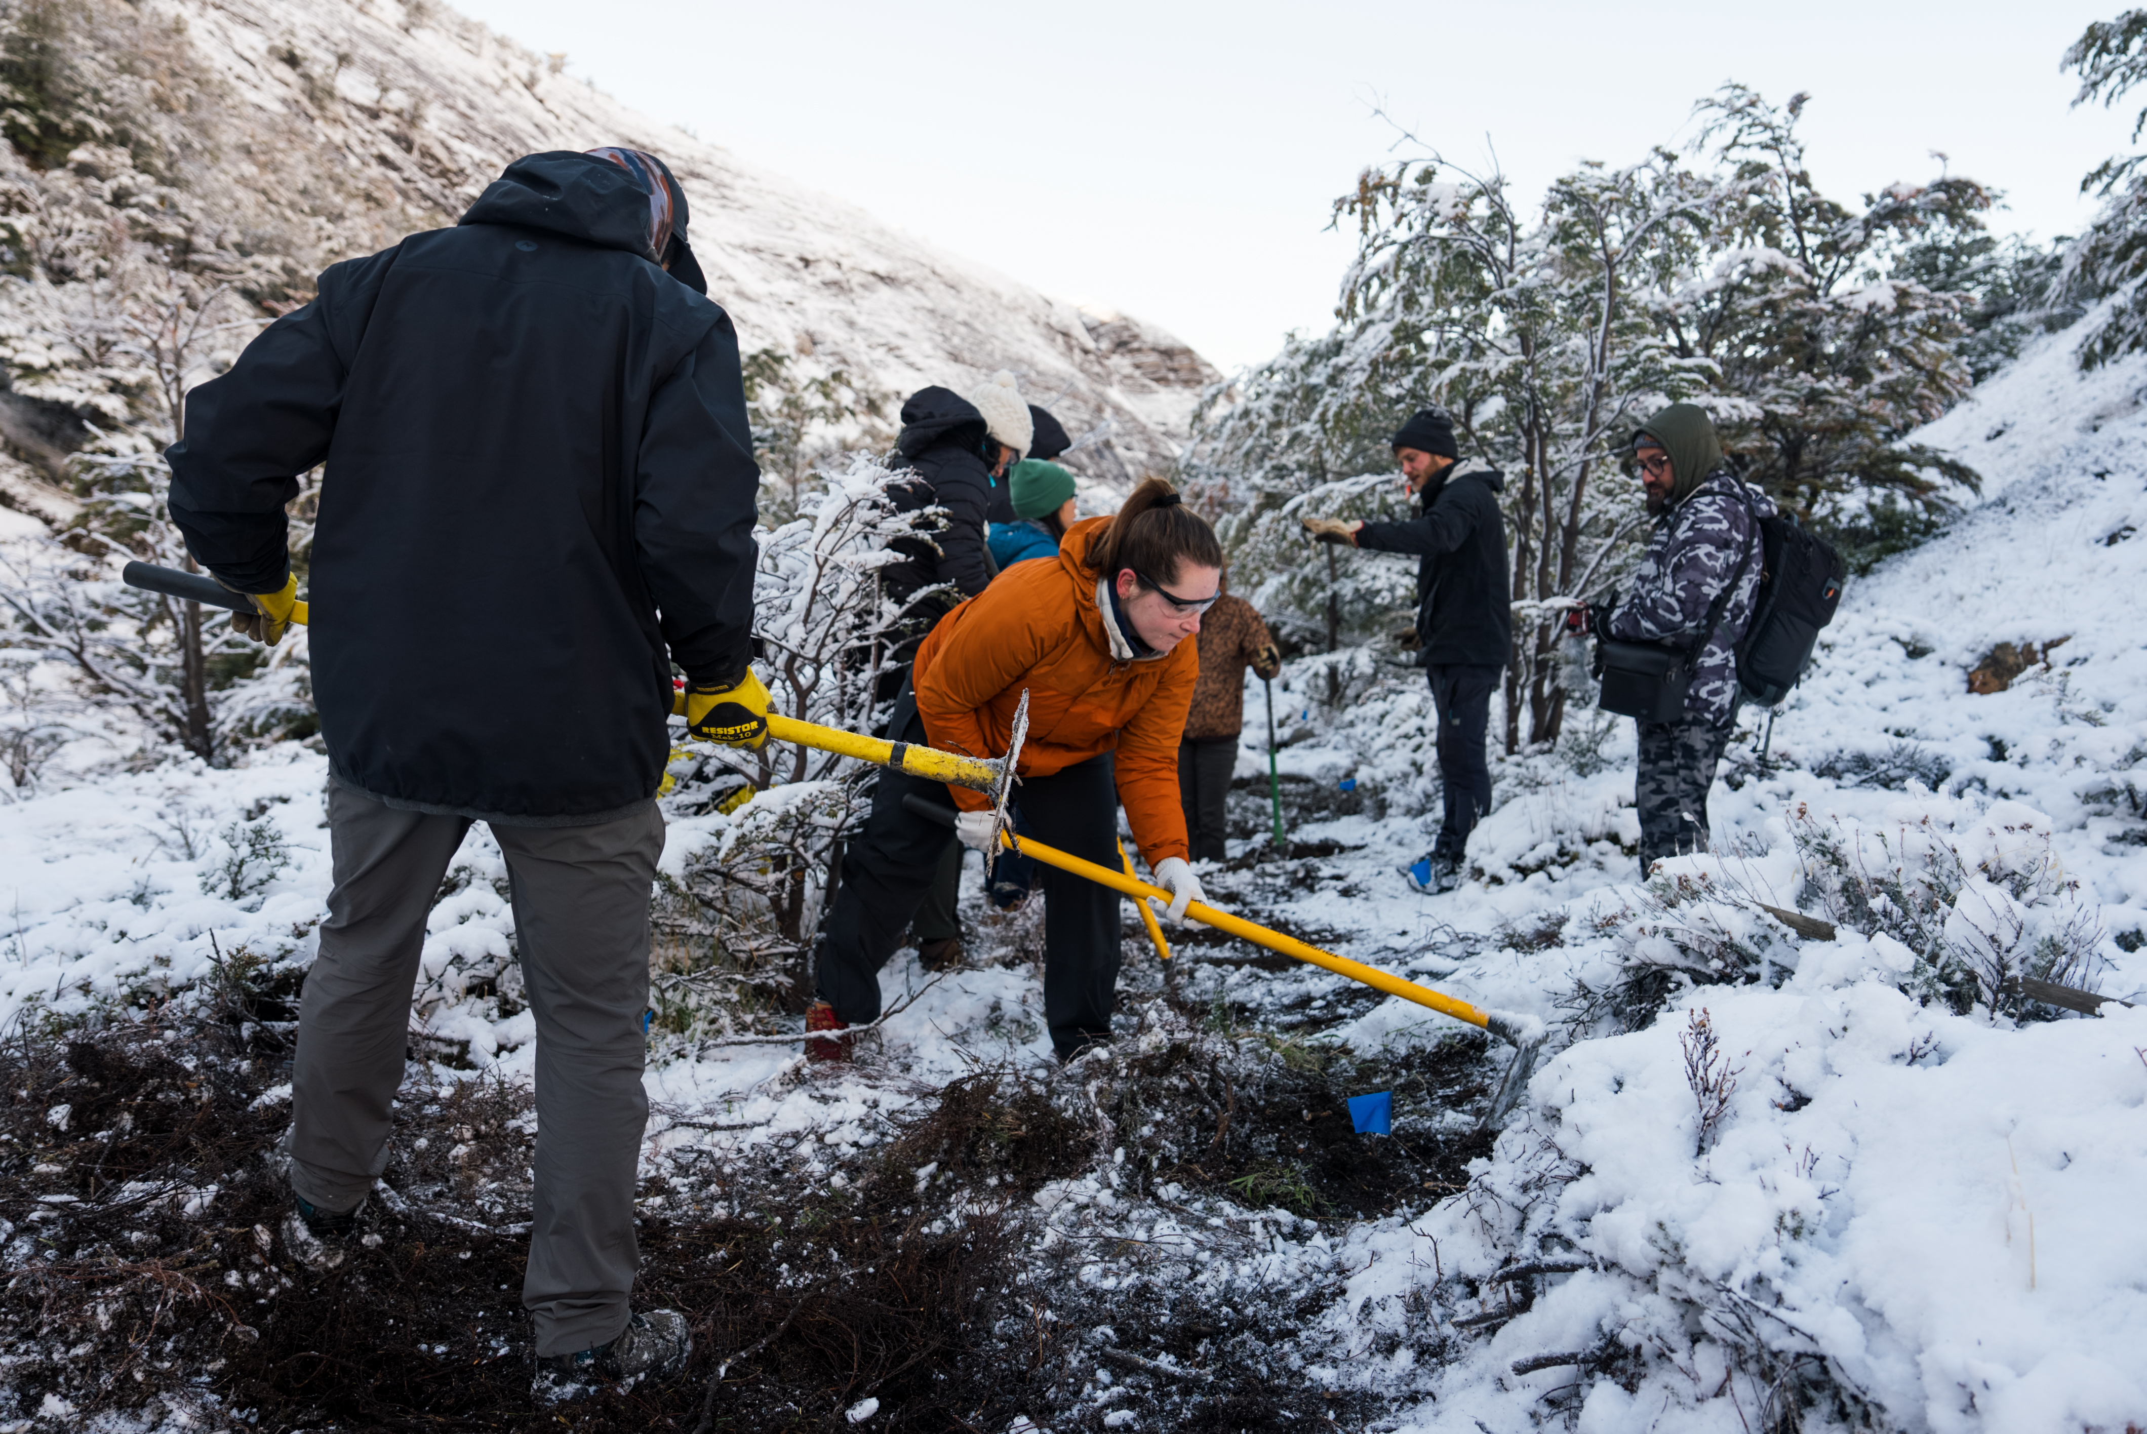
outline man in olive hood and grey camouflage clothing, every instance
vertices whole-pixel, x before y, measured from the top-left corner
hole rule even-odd
[[[1634,805],[1645,878],[1664,857],[1707,850],[1707,792],[1737,723],[1737,644],[1752,623],[1765,567],[1758,524],[1776,507],[1724,466],[1715,425],[1696,404],[1670,404],[1642,423],[1632,455],[1655,532],[1632,592],[1589,608],[1580,620],[1600,638],[1690,646],[1726,592],[1713,635],[1692,665],[1683,715],[1638,723]]]

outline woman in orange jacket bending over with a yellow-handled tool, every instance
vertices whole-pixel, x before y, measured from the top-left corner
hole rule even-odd
[[[887,734],[943,751],[996,758],[1028,691],[1016,805],[1024,831],[1116,867],[1116,805],[1170,914],[1202,899],[1187,863],[1179,805],[1179,734],[1200,655],[1192,638],[1222,588],[1222,545],[1162,479],[1134,489],[1114,517],[1074,524],[1056,562],[1007,569],[947,614],[917,650],[912,687]],[[960,809],[955,831],[917,816],[904,796]],[[958,837],[990,839],[988,801],[968,788],[880,775],[872,818],[844,857],[842,891],[816,951],[818,1000],[807,1030],[842,1030],[880,1013],[880,966],[893,955],[932,872]],[[1110,1039],[1119,983],[1119,893],[1043,872],[1043,1024],[1061,1060]],[[848,1052],[812,1039],[805,1054]]]

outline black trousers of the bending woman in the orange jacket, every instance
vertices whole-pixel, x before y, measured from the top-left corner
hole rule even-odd
[[[925,741],[925,723],[917,717],[917,698],[908,687],[895,698],[889,736],[902,743]],[[820,1000],[852,1026],[878,1020],[880,966],[902,949],[932,876],[955,839],[951,829],[904,807],[904,796],[953,807],[938,781],[880,773],[872,816],[842,859],[842,891],[820,932],[814,962]],[[1119,788],[1108,753],[1050,777],[1026,777],[1020,799],[1037,842],[1119,869]],[[1043,1024],[1052,1033],[1052,1045],[1071,1054],[1110,1037],[1110,1013],[1119,1005],[1123,897],[1056,867],[1041,872]]]

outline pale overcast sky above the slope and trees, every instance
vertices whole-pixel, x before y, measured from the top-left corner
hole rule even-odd
[[[685,4],[455,0],[567,52],[655,118],[1039,290],[1153,320],[1224,367],[1325,328],[1350,240],[1333,197],[1389,157],[1385,107],[1445,155],[1542,187],[1690,137],[1726,79],[1810,90],[1823,189],[1956,174],[1997,228],[2089,217],[2080,176],[2132,112],[2072,109],[2059,56],[2098,4],[1335,2]]]

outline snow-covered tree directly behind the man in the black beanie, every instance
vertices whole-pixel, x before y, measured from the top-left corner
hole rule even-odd
[[[1516,601],[1600,584],[1634,530],[1630,504],[1597,483],[1615,472],[1617,442],[1645,408],[1713,376],[1651,322],[1696,243],[1703,200],[1698,182],[1662,152],[1627,170],[1582,167],[1552,185],[1537,213],[1522,213],[1505,176],[1477,176],[1436,155],[1368,170],[1335,204],[1359,230],[1342,324],[1252,376],[1247,401],[1258,406],[1202,434],[1207,494],[1241,496],[1219,474],[1243,472],[1239,453],[1273,455],[1243,479],[1252,515],[1226,520],[1237,552],[1269,571],[1295,567],[1299,577],[1284,590],[1316,582],[1301,539],[1288,552],[1288,532],[1310,511],[1312,489],[1331,479],[1314,468],[1290,494],[1284,455],[1318,455],[1325,440],[1357,464],[1391,468],[1385,434],[1436,401],[1454,414],[1464,449],[1507,472]],[[1329,485],[1318,498],[1365,517],[1396,500],[1391,477]],[[1327,605],[1370,590],[1391,623],[1413,595],[1406,567],[1391,567],[1378,588],[1363,577],[1355,590],[1329,584]],[[1507,668],[1507,749],[1554,738],[1565,711],[1550,661],[1554,616],[1533,605],[1522,614]],[[1350,614],[1350,627],[1361,623],[1361,612]],[[1340,627],[1329,618],[1329,631]]]

